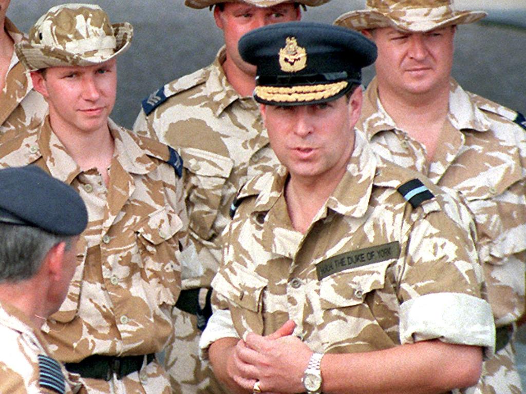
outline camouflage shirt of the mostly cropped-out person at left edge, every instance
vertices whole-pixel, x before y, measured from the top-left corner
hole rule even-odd
[[[6,18],[7,33],[16,43],[25,39],[15,25]],[[0,91],[0,143],[23,130],[35,130],[47,114],[47,102],[33,90],[33,82],[15,51],[7,71],[4,88]]]

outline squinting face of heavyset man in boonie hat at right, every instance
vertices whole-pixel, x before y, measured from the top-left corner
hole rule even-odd
[[[454,32],[452,26],[427,33],[403,33],[391,27],[373,30],[380,98],[382,89],[402,95],[433,95],[449,89]]]

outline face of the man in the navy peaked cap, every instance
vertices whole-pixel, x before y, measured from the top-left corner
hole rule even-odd
[[[261,106],[270,146],[292,179],[339,181],[354,149],[362,91],[318,105]]]

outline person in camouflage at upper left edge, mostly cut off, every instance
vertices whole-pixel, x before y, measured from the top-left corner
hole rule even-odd
[[[18,61],[14,45],[26,39],[6,17],[10,0],[0,0],[0,143],[36,129],[47,114],[46,100]]]

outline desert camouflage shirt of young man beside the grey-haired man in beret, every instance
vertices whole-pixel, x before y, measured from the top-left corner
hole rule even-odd
[[[170,312],[180,291],[177,255],[187,221],[182,185],[165,162],[165,145],[112,121],[109,128],[115,153],[108,186],[96,169],[80,170],[48,119],[37,133],[0,147],[0,165],[36,164],[72,185],[88,209],[68,295],[43,326],[63,362],[150,354],[174,331]]]

